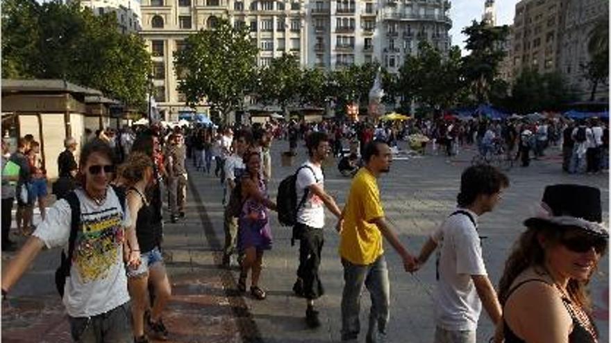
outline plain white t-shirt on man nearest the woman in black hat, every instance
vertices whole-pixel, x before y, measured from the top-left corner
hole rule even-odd
[[[478,216],[471,213],[476,220]],[[439,245],[435,324],[449,331],[474,331],[482,310],[471,275],[487,275],[480,238],[469,217],[449,216],[431,238]]]

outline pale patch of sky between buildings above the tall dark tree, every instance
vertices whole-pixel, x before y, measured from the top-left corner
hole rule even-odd
[[[496,0],[496,25],[513,24],[515,13],[515,4],[519,0]],[[464,39],[466,38],[460,31],[465,26],[471,25],[473,19],[480,21],[484,14],[484,0],[451,0],[452,7],[450,8],[450,18],[452,19],[452,45],[460,46],[462,55],[464,51]]]

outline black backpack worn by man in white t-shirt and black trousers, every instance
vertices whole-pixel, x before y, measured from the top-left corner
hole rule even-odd
[[[286,227],[292,227],[296,224],[297,209],[299,209],[308,198],[310,189],[305,188],[303,197],[301,197],[299,203],[297,202],[297,174],[299,174],[299,170],[303,168],[308,168],[314,173],[314,170],[310,166],[301,166],[294,174],[285,177],[278,186],[278,194],[276,195],[278,222]]]

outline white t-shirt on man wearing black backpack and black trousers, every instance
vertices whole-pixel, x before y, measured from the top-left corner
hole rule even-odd
[[[309,166],[312,168],[301,168],[299,174],[297,174],[297,204],[303,199],[303,193],[305,189],[312,184],[317,184],[321,188],[324,187],[324,175],[320,166],[312,164],[307,161],[302,166]],[[312,173],[313,170],[313,173]],[[314,227],[316,229],[322,229],[324,227],[324,202],[318,195],[308,191],[308,197],[299,209],[297,209],[297,222],[308,225],[308,227]]]

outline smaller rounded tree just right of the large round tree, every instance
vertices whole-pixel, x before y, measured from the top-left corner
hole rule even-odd
[[[278,103],[286,112],[299,99],[301,68],[294,55],[284,53],[259,71],[257,98],[265,104]]]

